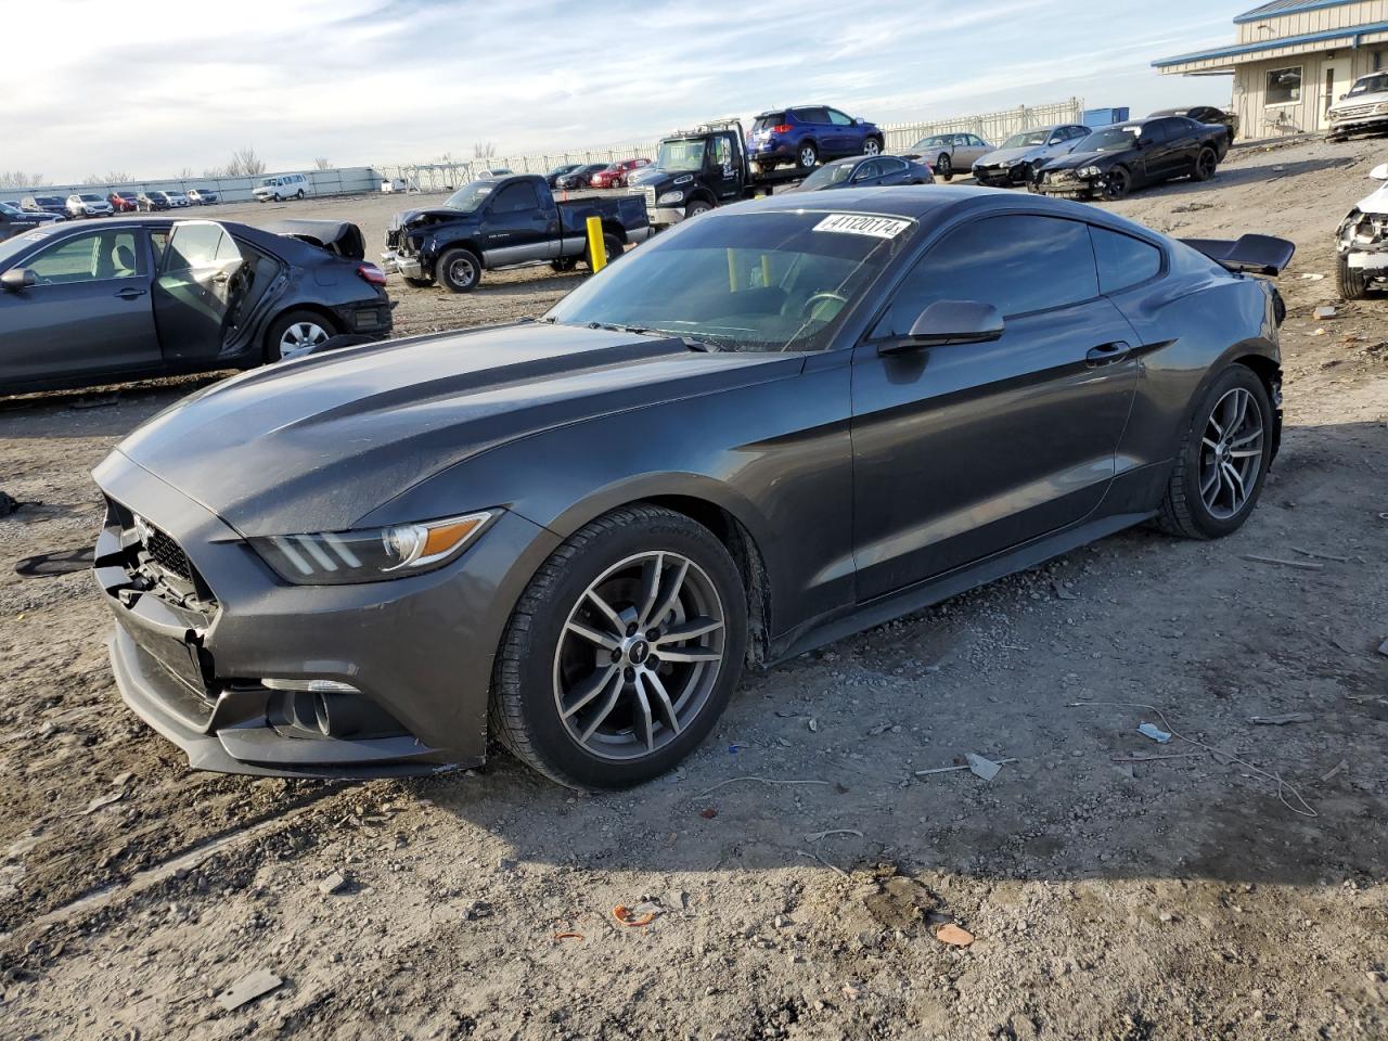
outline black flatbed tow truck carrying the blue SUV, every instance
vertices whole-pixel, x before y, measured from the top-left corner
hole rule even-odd
[[[809,171],[762,169],[747,157],[740,119],[715,119],[661,139],[655,162],[632,176],[632,194],[645,198],[655,229],[686,221],[719,205],[770,194],[776,185],[804,180]]]

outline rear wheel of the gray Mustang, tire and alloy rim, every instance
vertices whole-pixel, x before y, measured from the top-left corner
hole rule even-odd
[[[1158,526],[1184,539],[1223,539],[1248,520],[1273,461],[1267,387],[1231,365],[1205,391],[1181,439]]]

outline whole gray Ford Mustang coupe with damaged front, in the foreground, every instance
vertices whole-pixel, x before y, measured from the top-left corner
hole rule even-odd
[[[193,766],[688,755],[769,665],[1130,525],[1239,527],[1291,244],[985,189],[729,207],[539,322],[248,372],[97,469],[129,705]],[[233,436],[228,436],[232,432]]]

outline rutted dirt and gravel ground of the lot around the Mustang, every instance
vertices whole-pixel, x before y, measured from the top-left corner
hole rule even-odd
[[[1244,530],[1119,534],[748,676],[623,795],[502,755],[190,773],[121,705],[90,576],[14,564],[85,550],[89,469],[205,380],[0,405],[0,487],[28,502],[0,520],[0,1037],[1388,1037],[1388,298],[1338,301],[1331,242],[1384,158],[1239,150],[1116,205],[1299,246],[1285,443]],[[400,204],[293,211],[379,243]],[[271,217],[221,215],[243,212]],[[537,314],[580,278],[397,283],[398,330]],[[967,752],[1009,762],[916,775]],[[257,972],[279,985],[223,1010]]]

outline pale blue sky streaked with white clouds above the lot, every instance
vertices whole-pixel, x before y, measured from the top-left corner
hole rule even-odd
[[[1134,114],[1227,104],[1230,81],[1152,58],[1234,39],[1251,0],[49,0],[11,11],[0,169],[54,182],[443,153],[559,151],[705,118],[826,103],[877,122],[1080,96]],[[125,17],[128,15],[128,17]]]

